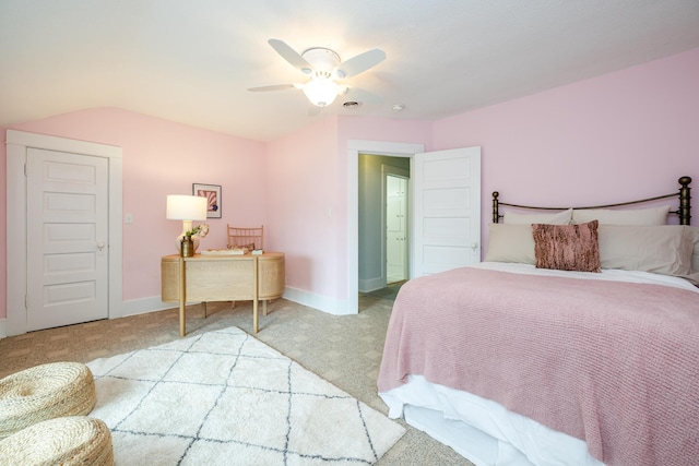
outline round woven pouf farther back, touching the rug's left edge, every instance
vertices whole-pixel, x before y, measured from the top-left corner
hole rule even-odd
[[[90,414],[97,401],[85,365],[52,362],[0,380],[0,439],[47,419]]]

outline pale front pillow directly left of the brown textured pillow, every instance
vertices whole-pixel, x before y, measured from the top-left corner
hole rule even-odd
[[[531,225],[490,224],[486,262],[536,263]]]

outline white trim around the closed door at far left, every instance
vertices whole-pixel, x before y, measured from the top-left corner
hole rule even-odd
[[[109,162],[109,268],[108,315],[122,315],[122,244],[121,244],[121,147],[76,141],[24,131],[7,131],[7,332],[8,335],[26,333],[26,177],[24,166],[27,147],[105,157]],[[12,200],[12,201],[10,201]]]

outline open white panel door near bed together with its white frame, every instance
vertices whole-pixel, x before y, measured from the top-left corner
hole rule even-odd
[[[344,280],[347,292],[343,306],[339,307],[345,314],[357,313],[359,301],[358,194],[363,189],[358,182],[359,154],[381,154],[410,159],[410,277],[465,266],[481,260],[479,146],[425,153],[423,144],[351,140],[347,142],[347,255]],[[426,199],[426,180],[430,183],[437,182],[438,191],[441,193]],[[454,182],[445,184],[447,180]],[[443,201],[448,201],[447,204],[443,204]],[[446,218],[445,207],[448,211],[449,207],[457,208],[454,214],[450,214],[447,223],[440,220]],[[429,224],[438,228],[426,229]],[[457,228],[445,231],[443,227],[449,224],[457,224]],[[446,250],[454,253],[440,254]]]

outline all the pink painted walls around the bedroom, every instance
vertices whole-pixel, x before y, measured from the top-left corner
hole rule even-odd
[[[223,186],[224,218],[210,222],[204,248],[225,243],[226,223],[263,223],[265,247],[287,253],[289,287],[343,299],[347,141],[481,145],[485,231],[494,190],[519,203],[568,205],[673,192],[684,175],[696,189],[697,83],[699,49],[434,123],[330,117],[270,143],[109,108],[11,128],[123,147],[123,212],[134,217],[123,225],[125,300],[159,296],[159,256],[175,252],[170,238],[180,230],[165,219],[165,196],[190,193],[192,182]],[[0,318],[4,278],[3,250]]]

